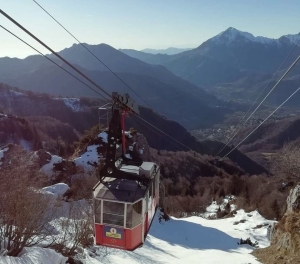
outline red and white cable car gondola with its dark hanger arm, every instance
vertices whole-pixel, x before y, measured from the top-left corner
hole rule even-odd
[[[128,95],[113,93],[113,100],[105,164],[93,188],[95,244],[135,250],[158,207],[160,173],[153,162],[125,156],[124,118],[139,111]]]

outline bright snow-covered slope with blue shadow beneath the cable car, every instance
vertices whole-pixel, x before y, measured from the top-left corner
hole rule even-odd
[[[241,221],[242,220],[242,221]],[[249,245],[238,245],[240,238],[257,240],[259,247],[269,245],[267,225],[257,211],[237,211],[232,218],[208,220],[202,217],[171,218],[159,223],[154,219],[146,243],[134,252],[94,247],[81,256],[84,264],[136,263],[223,263],[255,264]],[[257,228],[258,225],[265,225]],[[51,260],[51,261],[50,261]],[[50,261],[50,262],[49,262]],[[64,263],[65,258],[54,251],[30,248],[19,258],[0,257],[0,263]]]

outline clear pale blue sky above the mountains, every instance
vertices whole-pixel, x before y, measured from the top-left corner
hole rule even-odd
[[[299,0],[37,0],[79,40],[115,48],[197,47],[228,27],[278,38],[300,32]],[[0,7],[56,51],[75,41],[32,0]],[[37,49],[35,41],[0,15],[0,25]],[[0,57],[35,54],[0,28]]]

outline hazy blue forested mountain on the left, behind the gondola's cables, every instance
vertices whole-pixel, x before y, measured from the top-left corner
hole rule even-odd
[[[74,44],[59,54],[108,93],[130,93],[137,103],[145,105],[146,101],[146,106],[176,120],[188,129],[212,126],[222,122],[226,114],[243,109],[243,106],[217,99],[197,85],[176,76],[164,66],[145,63],[106,44],[85,45],[144,100],[92,58],[81,45]],[[54,55],[50,57],[56,60]],[[68,68],[66,65],[62,66]],[[71,72],[82,79],[73,70]],[[98,96],[39,55],[23,60],[0,58],[0,81],[21,89],[53,95]]]

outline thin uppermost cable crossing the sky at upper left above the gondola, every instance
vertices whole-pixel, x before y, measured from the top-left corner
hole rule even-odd
[[[55,19],[45,8],[43,8],[37,1],[33,0],[46,14],[48,14],[58,25],[60,25],[73,39],[75,39],[83,48],[85,48],[93,57],[95,57],[104,67],[106,67],[116,78],[118,78],[128,89],[130,89],[137,97],[139,97],[151,110],[152,107],[125,81],[123,81],[113,70],[111,70],[102,60],[99,59],[86,45],[79,41],[69,30],[67,30],[57,19]]]

